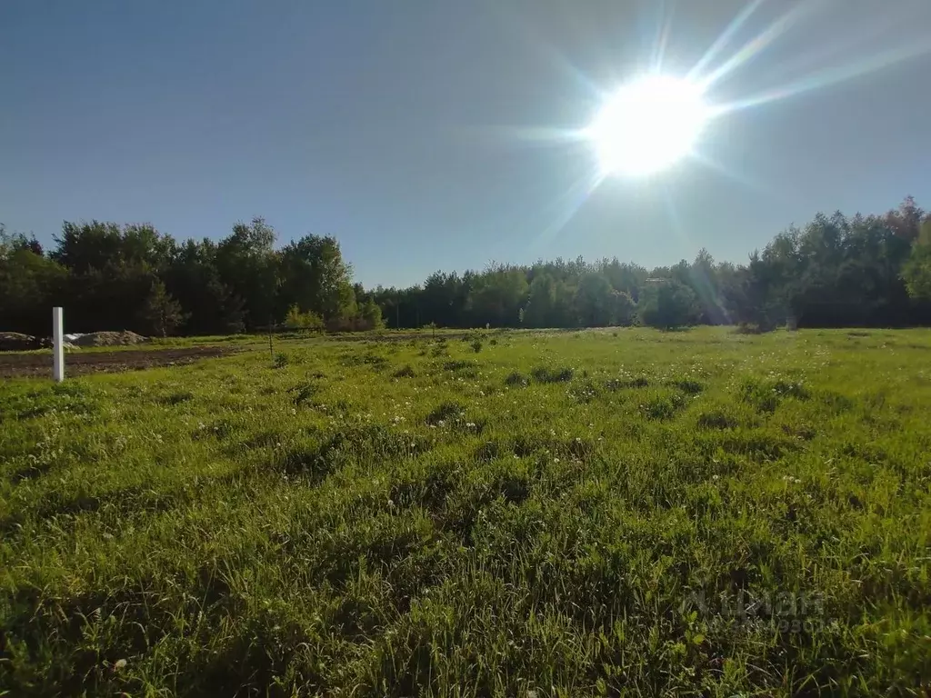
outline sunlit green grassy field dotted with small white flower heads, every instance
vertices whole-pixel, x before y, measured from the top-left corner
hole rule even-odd
[[[931,687],[931,332],[276,351],[0,385],[0,693]]]

